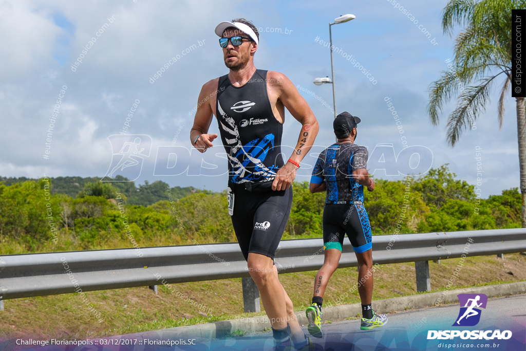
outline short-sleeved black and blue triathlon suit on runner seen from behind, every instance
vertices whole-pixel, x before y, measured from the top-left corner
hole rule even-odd
[[[327,184],[323,207],[323,246],[341,251],[345,233],[356,253],[372,248],[371,225],[363,207],[363,186],[352,177],[366,168],[367,148],[352,143],[332,144],[320,153],[311,183]]]

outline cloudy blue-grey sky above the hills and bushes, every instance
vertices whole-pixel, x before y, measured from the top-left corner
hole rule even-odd
[[[117,166],[124,143],[140,135],[135,159],[142,165],[129,167],[128,173],[118,168],[114,175],[137,177],[136,183],[161,179],[171,186],[225,188],[226,161],[219,139],[201,156],[190,151],[188,135],[201,86],[228,73],[214,28],[221,21],[245,17],[261,31],[256,67],[287,75],[321,125],[318,146],[297,178],[308,180],[315,155],[334,141],[332,87],[312,83],[331,74],[329,49],[320,41],[329,40],[329,22],[351,13],[356,19],[332,26],[338,47],[337,111],[362,118],[357,143],[369,148],[370,172],[397,179],[399,172],[418,173],[449,163],[459,178],[476,184],[478,146],[482,196],[518,187],[511,93],[500,131],[497,123],[503,81],[495,85],[486,113],[477,116],[476,129],[449,147],[446,118],[454,101],[444,108],[438,127],[430,125],[426,114],[429,85],[452,58],[454,38],[440,26],[447,2],[391,2],[0,0],[0,175],[103,177]],[[388,110],[388,98],[403,134]],[[127,137],[110,137],[125,126]],[[285,157],[299,129],[288,114]],[[214,121],[210,133],[217,131]]]

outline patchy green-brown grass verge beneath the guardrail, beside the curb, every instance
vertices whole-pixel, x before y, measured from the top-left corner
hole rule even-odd
[[[526,254],[466,258],[452,288],[492,285],[526,280]],[[459,258],[430,262],[432,292],[443,290]],[[316,272],[288,273],[280,280],[296,310],[310,305]],[[332,276],[324,304],[349,291],[357,282],[356,268],[341,268]],[[414,263],[381,265],[375,272],[375,299],[417,294]],[[82,339],[113,336],[183,325],[264,315],[243,313],[241,279],[174,284],[176,292],[159,286],[156,295],[147,287],[87,292],[101,317],[96,318],[78,294],[7,300],[0,311],[0,339]],[[180,294],[178,294],[180,293]],[[189,297],[188,301],[181,296]],[[193,303],[190,303],[190,299]],[[359,302],[358,292],[339,304]],[[196,305],[197,303],[197,305]],[[335,303],[333,303],[335,305]],[[200,307],[199,307],[200,306]],[[208,312],[208,314],[207,314]],[[102,319],[102,321],[100,321]],[[100,321],[100,322],[99,322]]]

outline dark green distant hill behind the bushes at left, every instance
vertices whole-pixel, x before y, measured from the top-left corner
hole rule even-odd
[[[127,178],[123,176],[116,176],[116,180],[119,182],[111,182],[111,184],[119,190],[119,192],[126,195],[127,203],[131,205],[142,205],[148,206],[155,204],[160,200],[168,200],[168,194],[166,189],[168,184],[156,180],[153,183],[149,183],[148,180],[145,180],[144,185],[139,184],[139,187],[136,187],[135,182],[130,182]],[[36,180],[26,177],[2,177],[0,176],[0,182],[3,182],[5,185],[12,185],[14,183],[25,182],[26,180]],[[66,194],[73,198],[77,196],[80,190],[84,189],[86,183],[95,183],[100,180],[100,177],[56,177],[50,178],[51,180],[51,192],[52,194]],[[181,188],[180,186],[175,186],[170,188],[171,197],[174,200],[183,198],[191,193],[201,192],[204,190],[199,190],[193,186],[187,186]],[[208,191],[206,191],[209,193]]]

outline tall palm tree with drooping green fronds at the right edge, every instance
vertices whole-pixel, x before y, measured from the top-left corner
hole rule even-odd
[[[441,77],[431,83],[428,113],[438,125],[442,105],[457,96],[457,106],[448,117],[448,143],[454,146],[466,129],[476,129],[476,119],[485,111],[490,93],[499,84],[497,119],[504,119],[504,101],[511,84],[511,10],[526,8],[526,0],[450,0],[442,11],[442,29],[456,38],[454,58]],[[503,82],[502,82],[503,81]],[[526,227],[526,121],[524,98],[517,97],[522,227]]]

